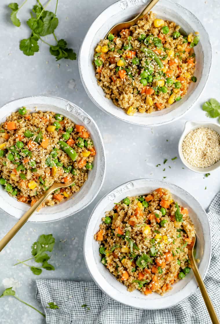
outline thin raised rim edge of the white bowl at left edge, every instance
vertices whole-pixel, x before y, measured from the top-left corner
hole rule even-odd
[[[34,100],[36,99],[45,99],[45,101],[47,101],[47,102],[45,102],[45,104],[47,104],[47,105],[54,105],[55,106],[55,104],[52,104],[52,103],[50,103],[49,102],[49,100],[50,99],[52,99],[52,100],[59,100],[59,102],[63,102],[63,103],[65,103],[65,105],[67,106],[68,104],[69,105],[73,105],[77,110],[79,110],[85,117],[87,117],[87,118],[89,118],[90,119],[90,121],[92,122],[92,124],[93,124],[93,126],[94,126],[94,128],[95,128],[95,130],[96,130],[96,132],[97,132],[97,134],[98,134],[98,138],[99,138],[99,141],[100,141],[100,148],[101,148],[101,151],[102,151],[102,158],[101,158],[101,163],[102,163],[102,169],[103,169],[103,173],[102,173],[102,178],[101,178],[101,182],[100,182],[100,184],[99,184],[99,186],[98,186],[98,188],[97,188],[97,191],[95,191],[94,192],[94,194],[92,195],[92,197],[91,197],[91,199],[89,199],[89,201],[85,204],[85,205],[82,205],[82,207],[80,207],[80,208],[78,208],[77,210],[75,210],[74,212],[73,211],[70,211],[70,213],[68,213],[68,214],[64,214],[64,212],[62,212],[64,215],[62,215],[62,216],[60,216],[60,217],[57,217],[56,219],[52,219],[52,220],[31,220],[31,218],[27,221],[27,222],[29,222],[29,223],[34,223],[34,224],[36,224],[36,223],[50,223],[50,222],[55,222],[55,221],[59,221],[59,220],[61,220],[61,219],[64,219],[64,218],[67,218],[67,217],[70,217],[70,216],[72,216],[72,215],[74,215],[74,214],[76,214],[76,213],[78,213],[78,212],[80,212],[81,210],[83,210],[84,208],[86,208],[90,203],[92,203],[93,202],[93,200],[97,197],[97,195],[98,195],[98,193],[99,193],[99,191],[101,190],[101,188],[102,188],[102,185],[103,185],[103,182],[104,182],[104,180],[105,180],[105,175],[106,175],[106,154],[105,154],[105,147],[104,147],[104,143],[103,143],[103,139],[102,139],[102,135],[101,135],[101,133],[100,133],[100,131],[99,131],[99,128],[98,128],[98,126],[97,126],[97,124],[96,124],[96,122],[94,121],[94,119],[85,111],[85,110],[83,110],[82,108],[80,108],[79,106],[77,106],[75,103],[73,103],[72,101],[69,101],[69,100],[67,100],[67,99],[64,99],[64,98],[61,98],[61,97],[56,97],[56,96],[48,96],[48,95],[30,95],[30,96],[25,96],[25,97],[20,97],[20,98],[17,98],[17,99],[13,99],[13,100],[11,100],[11,101],[8,101],[8,102],[6,102],[4,105],[2,105],[1,107],[0,107],[0,109],[3,109],[6,105],[9,105],[9,104],[13,104],[13,103],[15,103],[16,104],[16,102],[17,101],[19,101],[19,100],[24,100],[24,99],[33,99],[33,103],[31,103],[31,102],[29,102],[28,104],[29,105],[31,105],[31,104],[36,104],[36,105],[38,105],[38,103],[36,103],[36,102],[34,102]],[[60,109],[60,110],[64,110],[63,108],[61,108],[60,106],[59,106],[59,103],[57,103],[57,107]],[[65,110],[64,110],[64,112],[65,112]],[[8,114],[6,115],[6,117],[8,116]],[[72,113],[72,116],[73,116],[73,118],[74,118],[74,114]],[[4,117],[3,117],[4,118]],[[72,121],[74,121],[73,119],[71,119]],[[2,118],[0,118],[0,122],[2,122]],[[99,176],[99,174],[97,173],[97,176]],[[79,192],[79,191],[78,191]],[[12,197],[10,197],[9,195],[8,195],[8,197],[9,198],[12,198]],[[9,214],[6,210],[4,210],[4,209],[2,209],[1,207],[0,207],[0,210],[2,210],[2,211],[4,211],[4,213],[6,213],[7,215],[9,215],[9,216],[11,216],[11,217],[13,217],[14,219],[18,219],[17,217],[15,217],[14,215],[12,215],[12,214]],[[24,211],[24,213],[25,213],[25,211]],[[60,212],[61,213],[61,212]]]

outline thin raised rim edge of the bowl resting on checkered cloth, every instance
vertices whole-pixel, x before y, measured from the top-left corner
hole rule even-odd
[[[168,181],[164,181],[164,180],[158,180],[158,179],[147,179],[147,178],[141,178],[141,179],[134,179],[134,180],[130,180],[130,181],[126,181],[125,183],[117,186],[116,188],[110,190],[108,193],[106,193],[99,201],[98,203],[95,205],[95,207],[93,208],[92,210],[92,213],[88,219],[88,223],[87,223],[87,227],[86,227],[86,230],[85,230],[85,235],[84,235],[84,242],[83,242],[83,255],[84,255],[84,260],[85,260],[85,263],[86,263],[86,267],[87,267],[87,270],[91,276],[91,278],[93,279],[93,281],[98,285],[98,287],[100,288],[100,290],[108,295],[110,298],[112,298],[113,300],[123,304],[123,305],[126,305],[126,306],[130,306],[130,307],[135,307],[137,309],[145,309],[145,310],[156,310],[156,309],[166,309],[166,308],[169,308],[169,307],[173,307],[175,305],[177,305],[178,303],[180,303],[181,301],[185,300],[186,298],[190,297],[192,294],[195,293],[196,289],[198,288],[198,285],[196,283],[196,286],[194,287],[194,289],[189,293],[187,294],[186,296],[183,296],[181,299],[179,299],[178,301],[176,302],[173,302],[173,303],[170,303],[169,305],[165,305],[164,307],[139,307],[137,305],[133,305],[132,303],[130,302],[124,302],[124,301],[121,301],[120,298],[117,296],[117,294],[115,294],[114,296],[109,293],[109,291],[105,290],[100,284],[99,282],[93,277],[93,274],[92,274],[92,271],[89,267],[89,260],[87,260],[87,256],[86,256],[86,253],[87,253],[87,244],[89,243],[89,241],[87,242],[88,240],[88,230],[89,230],[89,227],[90,227],[90,221],[91,221],[91,218],[96,210],[96,208],[98,207],[98,205],[107,197],[109,196],[110,194],[114,193],[115,191],[120,191],[121,188],[123,188],[124,186],[130,184],[131,182],[137,182],[137,181],[147,181],[147,182],[157,182],[159,184],[159,186],[161,186],[161,184],[164,184],[165,186],[168,184],[168,185],[171,185],[171,186],[174,186],[176,188],[178,188],[179,190],[183,191],[185,194],[187,195],[190,195],[194,201],[200,206],[200,208],[202,209],[203,211],[203,214],[206,215],[206,220],[207,220],[207,224],[208,224],[208,237],[209,237],[209,240],[207,240],[207,249],[209,251],[209,258],[208,258],[208,261],[206,263],[206,266],[205,266],[205,270],[204,270],[204,273],[203,273],[203,276],[202,276],[202,279],[204,281],[205,279],[205,276],[208,272],[208,269],[209,269],[209,266],[210,266],[210,262],[211,262],[211,257],[212,257],[212,236],[211,236],[211,227],[210,227],[210,222],[209,222],[209,219],[208,219],[208,216],[206,214],[206,211],[205,209],[203,208],[203,206],[200,204],[200,202],[194,197],[192,196],[188,191],[186,191],[185,189],[182,189],[181,187],[171,183],[171,182],[168,182]],[[138,188],[135,188],[136,190],[138,190]],[[129,189],[128,189],[129,190]],[[126,191],[123,191],[123,193],[126,195]],[[181,198],[180,198],[181,199]],[[100,216],[100,221],[101,221],[101,216]],[[95,234],[95,233],[93,233]],[[92,239],[94,239],[94,235],[92,236]],[[91,257],[91,256],[90,256]],[[207,259],[206,259],[207,260]],[[112,278],[113,280],[116,280],[115,278]],[[105,279],[106,280],[106,279]],[[191,280],[189,281],[188,284],[190,284],[190,282],[194,280],[194,276],[191,278]],[[113,288],[115,290],[115,288]],[[134,297],[135,298],[135,297]],[[137,299],[137,298],[136,298]],[[146,299],[147,300],[147,299]]]

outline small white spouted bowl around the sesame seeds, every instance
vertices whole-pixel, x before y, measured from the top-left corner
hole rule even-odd
[[[207,127],[213,129],[215,132],[219,133],[220,135],[220,125],[219,124],[214,124],[212,122],[207,122],[207,121],[187,121],[185,123],[185,127],[183,130],[183,133],[179,139],[179,145],[178,145],[178,151],[179,151],[179,157],[182,161],[182,163],[190,170],[198,172],[198,173],[209,173],[211,171],[214,171],[215,169],[220,167],[220,161],[216,162],[210,167],[207,168],[198,168],[198,167],[193,167],[187,160],[185,159],[183,153],[182,153],[182,144],[184,141],[184,138],[188,133],[190,133],[192,130],[196,128],[201,128],[201,127]]]

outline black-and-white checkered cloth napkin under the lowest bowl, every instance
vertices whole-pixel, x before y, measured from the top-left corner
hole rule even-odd
[[[204,282],[220,318],[220,192],[207,213],[212,232],[212,260]],[[43,279],[37,280],[36,299],[44,308],[47,324],[211,323],[199,289],[174,307],[139,310],[115,302],[92,282]],[[55,302],[59,309],[47,308],[48,302]]]

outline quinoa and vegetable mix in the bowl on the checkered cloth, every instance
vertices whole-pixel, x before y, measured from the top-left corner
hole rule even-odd
[[[99,227],[101,262],[130,292],[163,295],[190,272],[187,245],[195,228],[167,189],[126,197]]]

